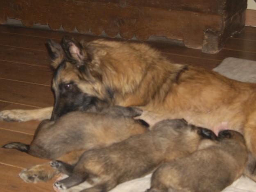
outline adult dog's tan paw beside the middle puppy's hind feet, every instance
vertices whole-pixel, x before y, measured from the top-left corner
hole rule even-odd
[[[52,169],[49,164],[36,165],[29,169],[23,169],[19,176],[26,183],[38,183],[48,181],[56,174],[56,169]]]

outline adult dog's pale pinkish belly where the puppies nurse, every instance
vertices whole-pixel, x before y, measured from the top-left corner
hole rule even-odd
[[[216,135],[219,131],[224,129],[231,129],[243,133],[243,117],[239,115],[230,113],[229,115],[224,115],[220,113],[155,113],[151,111],[143,111],[143,114],[137,117],[138,119],[145,120],[150,127],[152,127],[156,122],[164,119],[185,119],[189,124],[194,124],[196,126],[201,126],[207,129],[211,129]]]

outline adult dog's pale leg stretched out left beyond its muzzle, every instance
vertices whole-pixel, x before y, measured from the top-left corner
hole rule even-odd
[[[0,120],[25,122],[30,120],[50,119],[53,107],[31,110],[13,109],[0,112]]]

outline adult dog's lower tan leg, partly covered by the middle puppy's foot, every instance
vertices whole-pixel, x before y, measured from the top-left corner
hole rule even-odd
[[[57,160],[69,164],[75,164],[82,153],[84,153],[84,150],[71,151],[70,153],[61,156]],[[59,174],[59,171],[52,168],[49,162],[41,165],[35,165],[29,169],[23,169],[19,176],[26,183],[37,183],[39,181],[48,181],[57,174]]]

